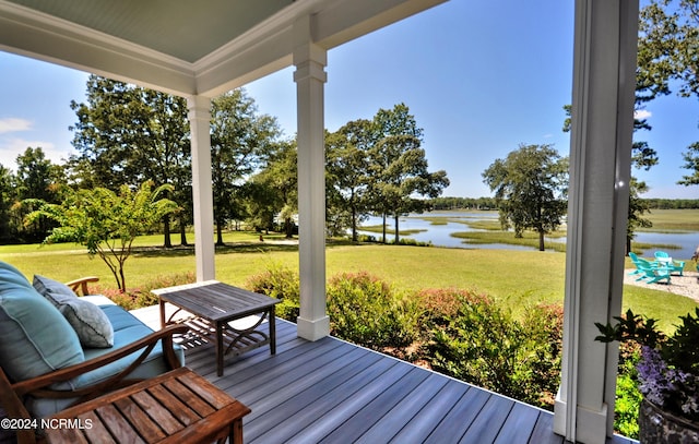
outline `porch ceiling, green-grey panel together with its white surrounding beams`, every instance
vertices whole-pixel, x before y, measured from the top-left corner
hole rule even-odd
[[[215,96],[292,63],[310,16],[331,49],[446,0],[0,0],[0,50]]]

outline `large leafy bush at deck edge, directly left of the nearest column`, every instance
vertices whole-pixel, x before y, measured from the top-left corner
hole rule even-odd
[[[532,308],[520,322],[487,296],[457,297],[458,312],[433,328],[427,346],[431,365],[516,399],[549,406],[560,368],[558,310]]]

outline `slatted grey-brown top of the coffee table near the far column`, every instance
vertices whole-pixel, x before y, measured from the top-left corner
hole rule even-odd
[[[280,303],[279,299],[217,280],[159,288],[153,293],[209,321],[227,321],[260,313]]]

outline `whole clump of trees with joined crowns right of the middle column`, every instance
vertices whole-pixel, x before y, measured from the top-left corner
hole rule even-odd
[[[428,205],[422,197],[437,197],[449,185],[447,172],[430,172],[423,149],[423,129],[405,104],[379,109],[372,120],[355,120],[325,140],[331,199],[346,212],[356,240],[356,225],[367,214],[393,217],[395,242],[399,218],[422,213]],[[341,216],[337,216],[341,217]]]

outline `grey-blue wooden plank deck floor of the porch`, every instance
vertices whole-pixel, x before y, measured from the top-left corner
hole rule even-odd
[[[553,415],[334,338],[277,322],[277,353],[244,355],[216,376],[210,344],[187,365],[252,409],[246,443],[562,443]],[[632,441],[615,436],[607,443]]]

